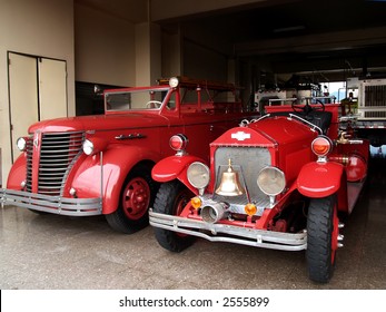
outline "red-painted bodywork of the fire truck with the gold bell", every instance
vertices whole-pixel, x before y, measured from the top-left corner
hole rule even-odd
[[[307,203],[307,198],[323,198],[331,194],[337,194],[338,198],[335,208],[350,213],[352,209],[348,207],[347,198],[353,196],[353,194],[348,193],[347,184],[363,181],[366,177],[369,145],[367,140],[360,142],[356,139],[357,142],[352,144],[348,140],[338,140],[339,105],[326,105],[326,111],[331,113],[333,116],[327,134],[334,144],[331,154],[319,160],[317,160],[317,156],[311,150],[311,143],[318,137],[318,131],[297,118],[288,117],[288,115],[283,116],[285,111],[294,113],[290,106],[283,105],[267,108],[270,109],[269,113],[273,116],[250,123],[245,127],[231,128],[210,144],[209,168],[211,176],[205,194],[210,198],[212,197],[214,191],[218,187],[216,183],[220,181],[216,176],[216,170],[218,166],[227,165],[226,158],[224,158],[225,164],[216,163],[216,153],[219,148],[267,149],[270,156],[269,165],[278,167],[285,174],[286,188],[283,194],[274,198],[271,206],[264,207],[264,212],[260,215],[254,217],[245,215],[245,221],[237,220],[237,216],[235,216],[234,220],[225,218],[218,223],[259,230],[270,228],[277,232],[289,231],[290,222],[286,220],[289,215],[281,216],[281,213],[287,207],[290,207],[293,203],[296,205],[296,203],[301,201]],[[280,114],[276,116],[275,113]],[[189,144],[194,140],[189,139]],[[229,157],[232,157],[231,152],[229,153]],[[348,157],[346,156],[347,154],[349,155]],[[243,156],[240,159],[240,165],[244,166]],[[191,156],[165,158],[156,165],[154,177],[160,182],[178,178],[187,187],[194,189],[186,178],[186,170],[184,172],[182,169],[195,160]],[[254,168],[248,167],[245,170],[253,172]],[[254,174],[257,177],[258,172]],[[253,188],[257,187],[255,182],[248,185],[248,192],[254,193]],[[195,193],[198,193],[197,189]],[[250,199],[251,202],[259,202],[261,196],[266,195],[263,194]],[[229,201],[231,202],[231,198]],[[187,204],[185,212],[195,212],[184,214],[185,217],[200,220],[199,214],[191,207],[190,203]],[[337,222],[338,218],[336,217],[334,224],[336,225]],[[334,248],[336,248],[336,242],[335,240]]]

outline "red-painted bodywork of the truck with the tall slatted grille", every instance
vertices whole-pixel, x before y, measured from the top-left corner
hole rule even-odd
[[[136,220],[147,213],[149,197],[155,194],[149,193],[147,184],[140,177],[122,189],[123,182],[133,167],[145,164],[151,169],[157,162],[172,155],[169,138],[178,133],[195,142],[189,145],[188,153],[209,160],[210,142],[237,126],[241,119],[256,116],[256,113],[243,111],[237,98],[229,104],[207,98],[207,94],[214,94],[214,89],[235,91],[235,86],[230,84],[182,79],[180,86],[174,88],[165,82],[154,87],[106,90],[105,115],[57,118],[31,125],[29,134],[34,143],[31,157],[32,192],[39,192],[42,136],[83,133],[85,139],[93,143],[95,150],[90,156],[80,152],[72,163],[65,162],[63,165],[70,169],[63,177],[62,191],[58,196],[72,198],[70,189],[75,188],[75,198],[101,197],[103,214],[115,212],[121,201],[127,217]],[[184,98],[187,88],[192,90],[194,96]],[[138,96],[138,91],[143,91],[143,96]],[[130,96],[113,99],[123,94]],[[146,109],[147,103],[148,107],[157,108]],[[67,148],[71,148],[71,143]],[[8,188],[26,191],[20,186],[26,181],[26,157],[23,153],[11,168]],[[122,192],[126,194],[125,198],[120,198]]]

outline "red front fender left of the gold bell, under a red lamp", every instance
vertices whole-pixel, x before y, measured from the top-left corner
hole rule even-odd
[[[201,158],[190,155],[185,156],[169,156],[158,162],[152,167],[151,177],[157,182],[169,182],[172,179],[179,179],[184,183],[191,192],[198,194],[196,187],[194,187],[187,177],[187,169],[194,162],[200,162],[206,164]]]

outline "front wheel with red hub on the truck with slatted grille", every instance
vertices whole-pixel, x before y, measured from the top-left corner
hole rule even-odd
[[[138,165],[126,177],[118,208],[106,215],[112,230],[132,234],[149,224],[148,209],[152,206],[159,187],[151,178],[150,170],[148,166]]]

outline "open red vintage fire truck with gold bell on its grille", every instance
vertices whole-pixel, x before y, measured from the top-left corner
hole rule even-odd
[[[309,103],[267,106],[215,139],[209,163],[172,136],[177,154],[152,168],[162,183],[149,213],[159,244],[180,252],[202,237],[306,250],[310,280],[328,282],[343,246],[339,215],[352,213],[365,183],[369,143],[339,130],[338,104]]]

